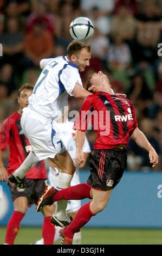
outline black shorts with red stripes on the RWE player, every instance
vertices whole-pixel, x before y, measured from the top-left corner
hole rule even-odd
[[[121,180],[126,168],[126,149],[100,149],[90,154],[87,184],[98,190],[111,190]]]

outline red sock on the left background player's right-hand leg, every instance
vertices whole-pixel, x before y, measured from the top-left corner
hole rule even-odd
[[[50,222],[51,217],[44,217],[42,237],[44,239],[44,245],[53,245],[55,236],[55,227]]]

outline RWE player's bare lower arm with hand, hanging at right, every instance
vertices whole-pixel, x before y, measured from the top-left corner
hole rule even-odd
[[[158,154],[156,153],[155,149],[152,147],[144,133],[137,127],[135,128],[132,139],[137,143],[137,145],[146,150],[149,153],[149,159],[150,163],[152,164],[152,167],[155,167],[156,164],[158,164]]]

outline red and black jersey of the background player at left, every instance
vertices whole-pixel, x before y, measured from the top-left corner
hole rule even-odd
[[[31,145],[27,137],[25,137],[21,124],[21,115],[17,112],[13,113],[4,120],[0,131],[0,149],[4,150],[9,145],[9,162],[8,175],[15,172],[20,167],[25,158],[31,151]],[[38,162],[25,174],[28,179],[47,179],[47,170],[44,161]]]

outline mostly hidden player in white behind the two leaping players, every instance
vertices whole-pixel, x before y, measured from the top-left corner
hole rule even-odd
[[[60,131],[61,140],[69,152],[70,156],[72,157],[73,161],[75,162],[76,157],[76,141],[75,141],[75,133],[76,131],[73,130],[74,123],[72,121],[68,121],[68,117],[66,119],[60,119],[57,123],[57,126]],[[85,143],[83,144],[83,153],[85,155],[85,160],[81,164],[80,168],[82,168],[85,165],[85,162],[87,160],[88,154],[90,153],[90,147],[87,138],[85,138]],[[54,165],[53,162],[49,160],[49,172],[48,172],[48,181],[49,185],[56,187],[57,179],[59,176],[59,169]],[[80,184],[79,179],[79,168],[76,167],[75,173],[73,175],[73,179],[70,183],[71,186],[75,186],[77,184]],[[67,214],[71,217],[75,217],[77,214],[77,211],[81,207],[81,201],[80,200],[69,200],[67,205]],[[54,241],[57,241],[60,239],[59,237],[59,230],[60,227],[55,227],[55,239]],[[34,243],[35,245],[43,245],[44,241],[43,238],[38,240]],[[73,239],[73,245],[81,245],[81,231],[75,233],[74,239]]]

